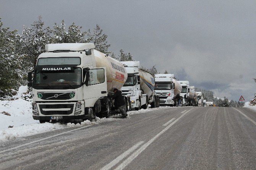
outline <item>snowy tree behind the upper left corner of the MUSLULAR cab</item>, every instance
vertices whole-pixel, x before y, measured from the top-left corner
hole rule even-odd
[[[21,42],[23,43],[24,54],[27,56],[26,59],[31,63],[31,67],[34,67],[37,57],[45,52],[45,44],[52,43],[53,38],[50,35],[52,30],[50,27],[44,27],[41,16],[31,26],[31,28],[23,26]]]

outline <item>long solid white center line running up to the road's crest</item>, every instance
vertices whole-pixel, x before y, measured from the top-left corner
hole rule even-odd
[[[193,109],[193,108],[192,108]],[[124,160],[122,162],[122,164],[120,164],[117,168],[115,168],[115,170],[122,170],[123,168],[125,168],[128,164],[131,163],[131,161],[133,161],[142,151],[144,151],[147,146],[149,146],[154,140],[156,140],[156,138],[158,138],[160,135],[162,135],[165,131],[167,131],[170,127],[172,127],[172,125],[174,125],[178,120],[181,119],[181,117],[183,117],[186,113],[188,113],[189,111],[191,111],[192,109],[186,111],[185,113],[183,113],[180,117],[178,117],[178,119],[174,120],[170,125],[168,125],[166,128],[164,128],[164,130],[162,130],[160,133],[158,133],[156,136],[154,136],[151,140],[149,140],[147,143],[143,144],[137,151],[135,151],[133,154],[131,154],[131,156],[129,156],[126,160]]]

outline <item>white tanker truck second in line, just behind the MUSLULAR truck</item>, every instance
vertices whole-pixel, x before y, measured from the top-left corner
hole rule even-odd
[[[159,95],[155,93],[154,76],[140,67],[139,61],[121,61],[125,66],[128,78],[122,87],[122,94],[130,101],[130,108],[146,109],[147,105],[159,107]]]

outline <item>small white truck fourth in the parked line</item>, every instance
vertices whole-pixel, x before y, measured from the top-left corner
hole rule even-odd
[[[197,106],[197,94],[194,91],[194,86],[190,87],[189,81],[178,82],[181,83],[182,86],[180,96],[182,96],[183,106]]]

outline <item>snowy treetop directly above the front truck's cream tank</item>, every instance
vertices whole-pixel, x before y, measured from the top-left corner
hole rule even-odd
[[[108,55],[110,53],[108,50],[111,44],[107,42],[108,35],[102,34],[102,32],[103,29],[100,29],[100,26],[97,24],[93,32],[91,32],[90,29],[87,31],[88,40],[94,43],[96,50]]]

